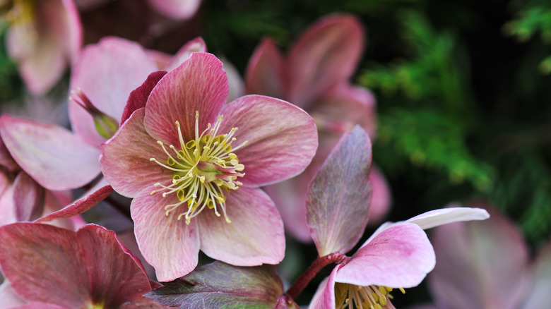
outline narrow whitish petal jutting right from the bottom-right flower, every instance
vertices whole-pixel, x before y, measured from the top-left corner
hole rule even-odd
[[[419,214],[405,222],[421,226],[421,229],[432,229],[434,226],[449,224],[452,222],[485,220],[490,217],[486,210],[470,207],[449,207],[441,210],[431,210]]]

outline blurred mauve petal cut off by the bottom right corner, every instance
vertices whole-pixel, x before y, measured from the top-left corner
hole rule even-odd
[[[534,284],[528,298],[523,302],[522,309],[545,308],[549,305],[551,291],[551,242],[538,255],[533,267]]]

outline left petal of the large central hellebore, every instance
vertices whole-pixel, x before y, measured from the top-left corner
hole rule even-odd
[[[119,131],[102,145],[100,164],[103,176],[118,193],[134,198],[154,183],[172,180],[168,169],[162,168],[153,157],[166,157],[160,145],[143,128],[145,109],[138,109],[123,123]]]

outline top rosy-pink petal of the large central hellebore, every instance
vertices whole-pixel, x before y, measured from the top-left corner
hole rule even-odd
[[[195,138],[195,114],[199,111],[199,134],[214,124],[229,89],[222,62],[212,54],[194,53],[163,77],[151,92],[146,118],[148,133],[167,145],[179,145],[176,121],[184,142]]]

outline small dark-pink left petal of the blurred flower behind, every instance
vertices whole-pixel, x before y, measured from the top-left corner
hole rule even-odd
[[[247,66],[247,93],[285,99],[282,85],[283,66],[283,58],[278,47],[271,39],[263,39],[254,50]]]

